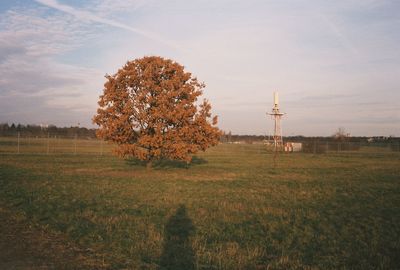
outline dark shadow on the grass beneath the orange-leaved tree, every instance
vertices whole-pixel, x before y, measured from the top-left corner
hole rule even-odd
[[[146,167],[146,161],[142,161],[139,159],[127,159],[126,162],[131,165],[131,166],[142,166],[142,167]],[[166,169],[166,168],[183,168],[183,169],[187,169],[191,166],[195,166],[195,165],[201,165],[201,164],[206,164],[208,161],[197,157],[197,156],[193,156],[192,157],[192,161],[190,163],[187,163],[185,161],[180,161],[180,160],[171,160],[171,159],[160,159],[160,160],[156,160],[153,162],[153,169]]]

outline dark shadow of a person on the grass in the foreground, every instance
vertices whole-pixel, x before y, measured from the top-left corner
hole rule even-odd
[[[180,205],[165,226],[160,269],[195,269],[195,255],[189,239],[194,231],[195,227],[186,213],[186,207]]]

